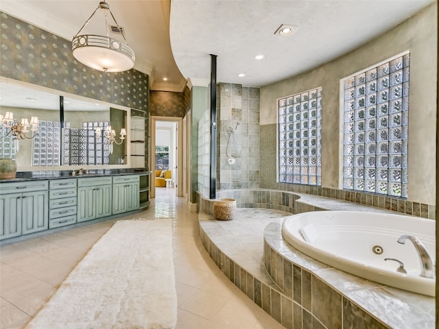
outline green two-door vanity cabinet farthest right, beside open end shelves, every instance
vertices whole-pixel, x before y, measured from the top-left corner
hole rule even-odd
[[[112,197],[113,215],[139,209],[139,175],[114,176]]]

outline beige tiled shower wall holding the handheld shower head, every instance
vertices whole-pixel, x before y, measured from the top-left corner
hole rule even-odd
[[[220,83],[217,104],[217,189],[257,188],[259,88]],[[235,163],[230,164],[228,158]]]

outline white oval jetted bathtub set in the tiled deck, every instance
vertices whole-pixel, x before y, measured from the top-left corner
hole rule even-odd
[[[405,234],[415,236],[434,263],[435,224],[431,219],[381,212],[315,211],[285,219],[282,236],[300,252],[331,267],[390,287],[434,296],[436,276],[420,276],[420,256],[414,244],[397,240]],[[397,260],[403,263],[403,269]]]

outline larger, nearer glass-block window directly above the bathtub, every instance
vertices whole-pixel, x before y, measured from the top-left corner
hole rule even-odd
[[[346,78],[343,188],[407,197],[410,53]]]

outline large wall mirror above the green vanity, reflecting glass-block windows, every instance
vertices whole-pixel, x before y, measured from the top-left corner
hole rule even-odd
[[[11,127],[0,125],[0,158],[13,158],[22,171],[66,166],[128,167],[129,111],[123,106],[0,78],[3,119],[8,112],[17,123],[39,119],[36,132],[30,125],[23,138],[14,138]]]

